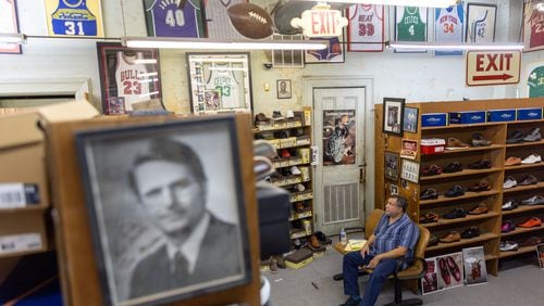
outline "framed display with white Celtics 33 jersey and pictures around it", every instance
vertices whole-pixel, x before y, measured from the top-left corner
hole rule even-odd
[[[251,112],[249,53],[187,53],[194,114]]]

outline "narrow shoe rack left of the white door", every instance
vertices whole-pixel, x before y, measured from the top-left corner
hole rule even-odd
[[[277,157],[272,160],[276,171],[269,181],[290,193],[293,246],[309,242],[313,233],[310,110],[294,112],[290,117],[277,112],[272,118],[258,114],[254,131],[256,139],[265,139],[277,150]]]

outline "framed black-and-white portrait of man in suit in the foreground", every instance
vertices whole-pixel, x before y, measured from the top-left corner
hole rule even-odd
[[[76,135],[104,305],[249,283],[235,128],[226,116]]]

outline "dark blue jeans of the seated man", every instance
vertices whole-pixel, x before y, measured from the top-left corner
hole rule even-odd
[[[344,294],[348,296],[359,296],[359,283],[357,278],[359,277],[359,267],[366,266],[372,260],[374,256],[367,255],[364,258],[361,256],[361,252],[350,252],[344,256],[343,270],[344,276]],[[364,295],[362,297],[362,306],[372,306],[378,299],[378,295],[382,291],[382,286],[387,281],[387,278],[393,275],[395,267],[397,266],[396,259],[382,259],[380,264],[374,268],[374,271],[370,275],[369,282],[367,283],[367,289],[364,290]]]

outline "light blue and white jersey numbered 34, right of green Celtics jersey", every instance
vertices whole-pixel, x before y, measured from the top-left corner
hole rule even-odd
[[[434,40],[462,42],[462,4],[434,11]],[[436,55],[461,55],[462,51],[435,51]]]

